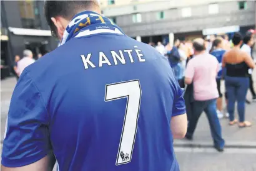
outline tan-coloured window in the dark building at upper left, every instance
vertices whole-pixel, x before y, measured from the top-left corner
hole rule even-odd
[[[23,28],[40,29],[39,1],[18,1]]]

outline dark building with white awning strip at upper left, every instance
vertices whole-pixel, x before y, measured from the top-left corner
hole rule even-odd
[[[10,71],[15,55],[22,57],[22,50],[32,50],[37,58],[38,53],[57,47],[43,6],[44,1],[1,1],[1,65],[9,66]]]

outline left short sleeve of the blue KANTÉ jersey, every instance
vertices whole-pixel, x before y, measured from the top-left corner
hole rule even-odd
[[[14,89],[2,146],[2,165],[21,167],[45,157],[49,143],[49,115],[36,85],[24,70]]]

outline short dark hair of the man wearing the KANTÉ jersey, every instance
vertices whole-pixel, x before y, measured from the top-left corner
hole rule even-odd
[[[56,16],[71,20],[78,12],[99,7],[97,1],[45,1],[44,15],[50,26],[52,35],[56,36],[56,27],[51,18]]]

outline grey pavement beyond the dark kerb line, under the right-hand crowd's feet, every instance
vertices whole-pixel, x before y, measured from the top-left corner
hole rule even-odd
[[[251,99],[250,95],[248,97],[248,99]],[[256,149],[256,103],[247,104],[245,110],[245,119],[254,124],[252,127],[239,128],[237,125],[229,126],[229,119],[220,119],[220,124],[222,125],[222,136],[224,137],[226,148],[239,147]],[[237,113],[235,116],[238,119]],[[202,113],[199,119],[193,138],[193,141],[187,141],[185,139],[175,140],[174,145],[178,147],[213,146],[209,122],[205,113]]]

